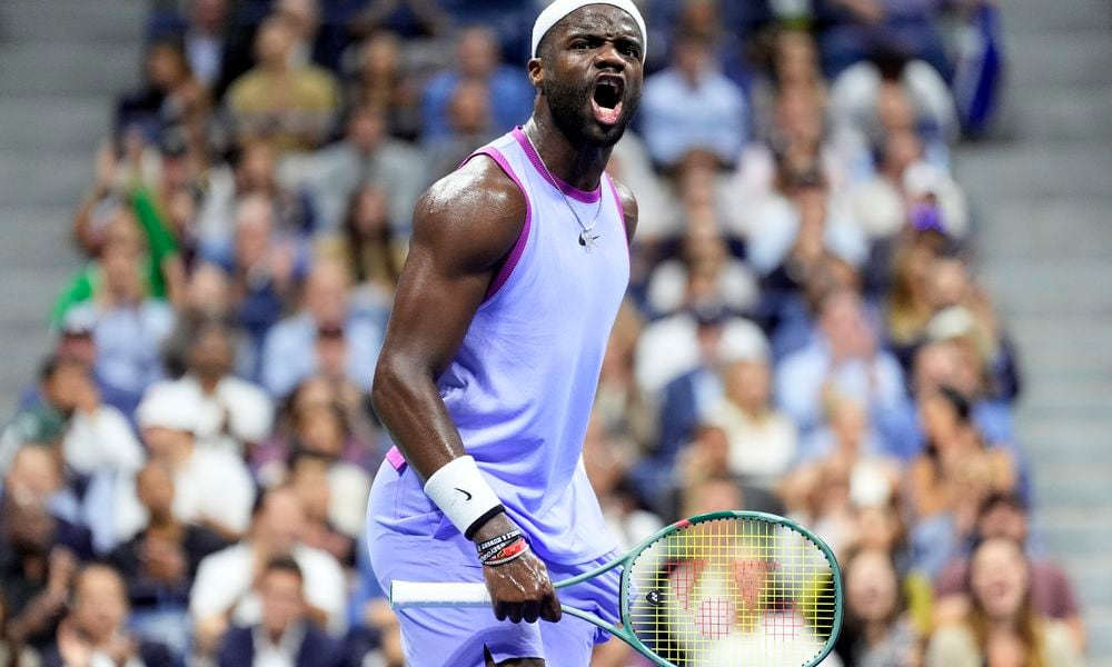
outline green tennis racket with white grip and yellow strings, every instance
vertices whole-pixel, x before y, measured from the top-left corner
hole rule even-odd
[[[719,511],[685,519],[625,556],[558,581],[622,568],[620,623],[564,606],[662,667],[817,665],[842,627],[842,573],[821,539],[783,517]],[[390,605],[488,607],[485,584],[394,581]]]

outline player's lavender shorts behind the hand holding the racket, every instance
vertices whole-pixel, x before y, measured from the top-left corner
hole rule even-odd
[[[370,491],[367,541],[370,563],[384,590],[395,579],[483,581],[475,546],[451,530],[437,535],[444,515],[421,489],[408,466],[397,472],[384,462]],[[616,554],[577,565],[546,563],[560,581],[609,563]],[[618,623],[620,575],[617,569],[559,591],[560,604]],[[410,667],[484,667],[483,647],[496,663],[545,658],[549,667],[587,667],[604,630],[567,614],[559,623],[499,621],[492,609],[404,609],[398,611],[401,644]]]

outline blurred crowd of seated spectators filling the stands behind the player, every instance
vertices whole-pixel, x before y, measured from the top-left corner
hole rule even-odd
[[[832,661],[1080,664],[952,168],[999,9],[638,4],[609,171],[642,220],[584,448],[614,534],[786,515],[844,567]],[[368,390],[413,205],[528,118],[543,6],[151,0],[0,439],[0,664],[403,664],[361,542],[391,446]],[[646,664],[617,644],[596,665]]]

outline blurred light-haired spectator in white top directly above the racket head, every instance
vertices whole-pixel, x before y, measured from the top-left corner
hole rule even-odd
[[[722,370],[722,385],[723,398],[711,409],[708,420],[729,439],[728,470],[748,485],[771,489],[795,459],[796,431],[771,405],[768,358],[729,359]]]

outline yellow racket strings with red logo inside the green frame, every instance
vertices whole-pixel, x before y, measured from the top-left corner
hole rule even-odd
[[[629,567],[634,634],[678,667],[807,665],[834,628],[834,570],[788,526],[751,518],[691,524]]]

